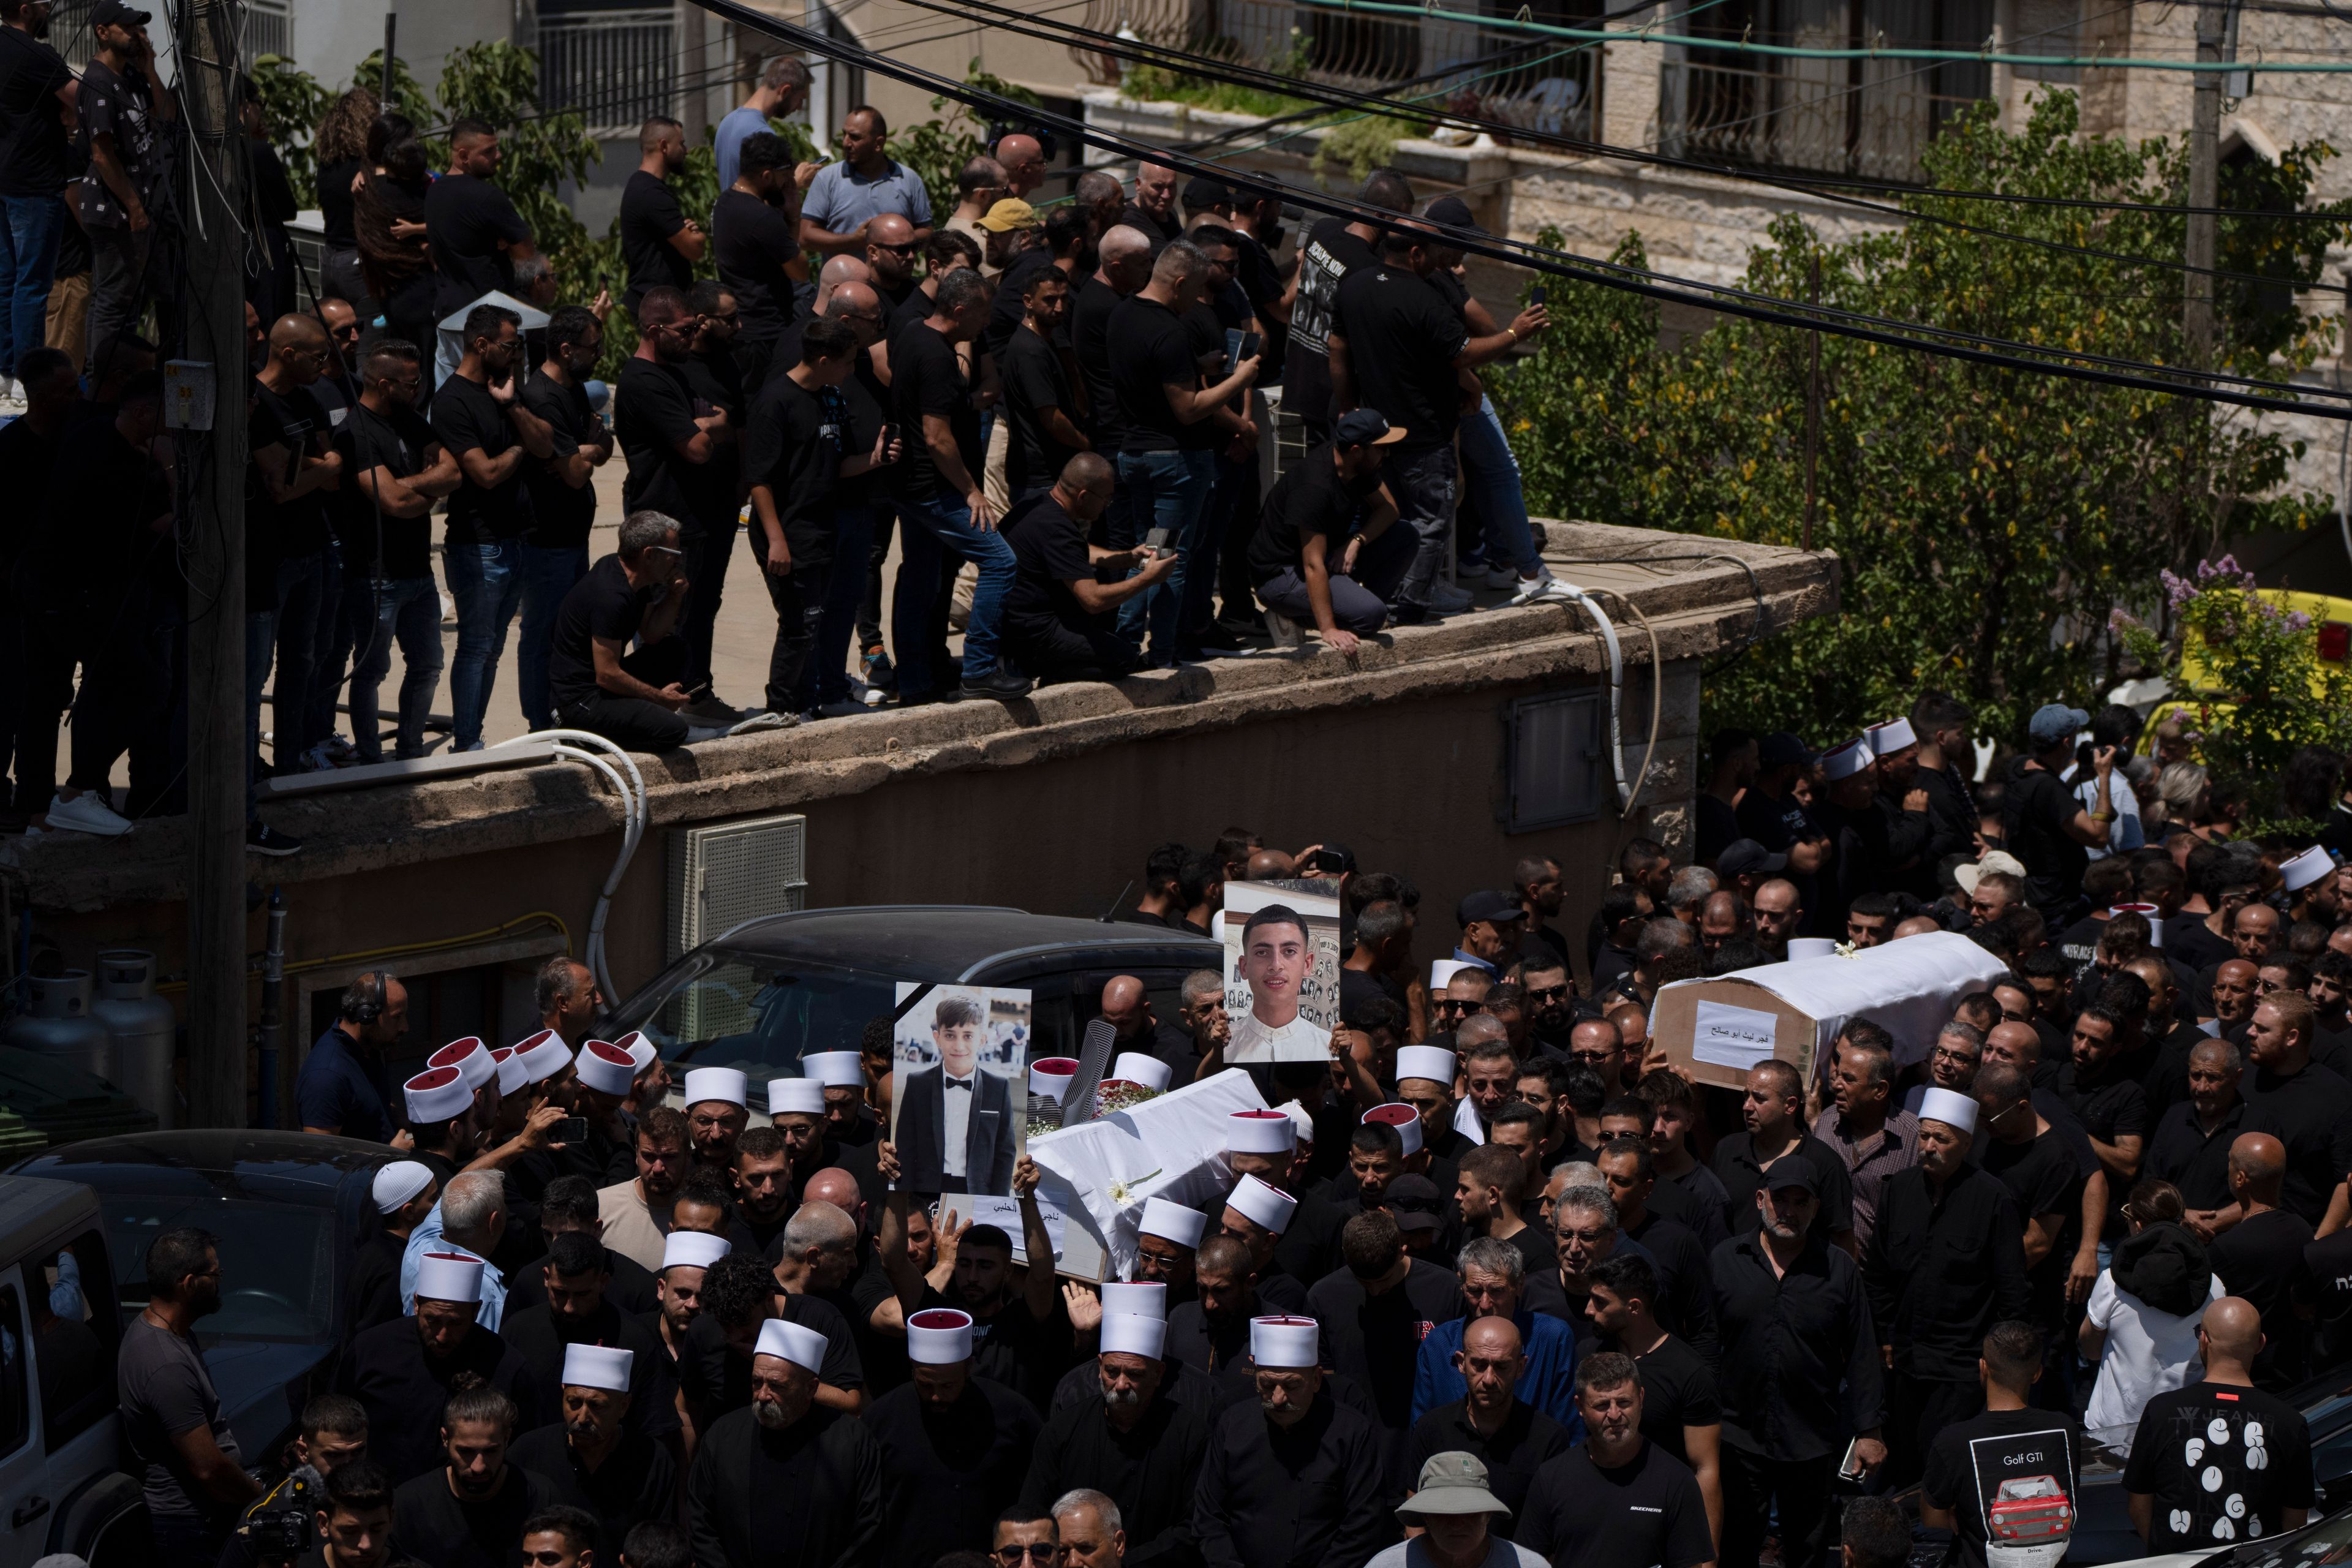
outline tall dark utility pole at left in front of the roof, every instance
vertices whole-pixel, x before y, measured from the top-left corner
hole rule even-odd
[[[195,475],[188,559],[188,1124],[245,1126],[245,160],[242,0],[191,0],[179,38],[188,158],[181,360],[209,367],[212,430],[183,430]],[[198,371],[202,374],[202,371]],[[195,461],[200,458],[200,461]]]

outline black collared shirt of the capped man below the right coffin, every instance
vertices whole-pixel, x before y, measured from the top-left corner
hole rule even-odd
[[[1816,1460],[1879,1425],[1884,1375],[1860,1267],[1818,1222],[1778,1279],[1757,1237],[1724,1241],[1708,1262],[1724,1328],[1726,1443]]]

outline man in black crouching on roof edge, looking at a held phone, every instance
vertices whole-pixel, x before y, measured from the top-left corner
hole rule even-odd
[[[1110,494],[1110,458],[1077,451],[1051,489],[1016,501],[1004,515],[1016,567],[1004,597],[1004,651],[1040,682],[1134,675],[1136,649],[1120,637],[1110,611],[1176,571],[1176,550],[1167,548],[1162,529],[1152,529],[1157,545],[1134,550],[1087,543]],[[1120,581],[1101,581],[1105,569]]]

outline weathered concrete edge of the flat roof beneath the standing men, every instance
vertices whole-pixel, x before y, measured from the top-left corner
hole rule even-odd
[[[1837,604],[1830,552],[1708,541],[1588,522],[1543,522],[1543,550],[1559,576],[1628,562],[1715,552],[1726,562],[1672,562],[1625,571],[1616,583],[1658,639],[1658,658],[1700,658],[1750,639],[1762,595],[1766,630]],[[1736,564],[1738,562],[1738,564]],[[1661,562],[1663,567],[1663,562]],[[1750,578],[1750,569],[1755,578]],[[1639,581],[1630,581],[1639,578]],[[1613,599],[1604,599],[1613,609]],[[1625,663],[1651,661],[1639,623],[1621,623]],[[1548,677],[1592,677],[1606,668],[1599,637],[1571,604],[1489,609],[1367,639],[1355,658],[1319,644],[1152,670],[1122,682],[1047,686],[1021,703],[941,703],[828,719],[807,729],[710,741],[637,757],[652,825],[696,823],[856,795],[910,773],[1011,769],[1131,741],[1232,729],[1317,710],[1477,693]],[[1628,717],[1639,736],[1644,715]],[[1639,741],[1635,741],[1637,745]],[[1632,750],[1632,748],[1628,748]],[[1661,736],[1661,764],[1682,773],[1682,745]],[[1637,764],[1639,757],[1630,757]],[[557,844],[609,835],[621,806],[583,766],[550,764],[473,778],[393,785],[294,799],[268,809],[270,823],[303,839],[301,856],[256,863],[273,882],[325,882],[388,865]],[[0,877],[52,910],[96,910],[186,896],[186,827],[151,820],[129,839],[7,839]]]

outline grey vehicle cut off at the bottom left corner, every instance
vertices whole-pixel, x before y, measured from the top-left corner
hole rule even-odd
[[[146,1552],[139,1483],[118,1467],[113,1276],[89,1187],[0,1175],[0,1568]]]

